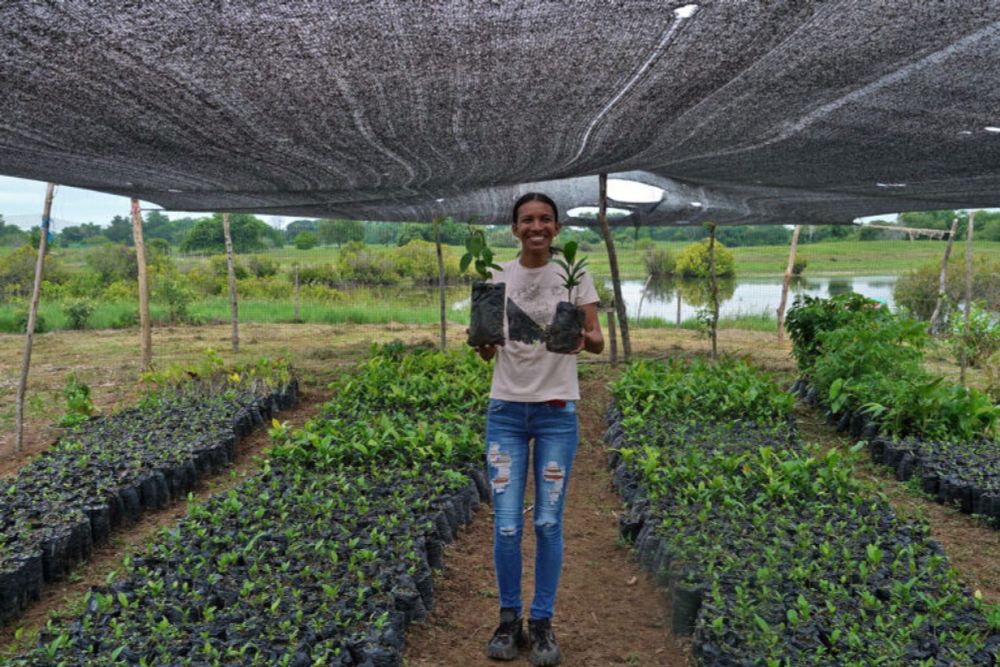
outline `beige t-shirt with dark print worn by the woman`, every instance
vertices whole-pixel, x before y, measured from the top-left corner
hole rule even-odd
[[[554,262],[536,269],[521,266],[518,259],[493,272],[493,282],[506,283],[504,309],[505,344],[497,350],[490,398],[503,401],[576,401],[580,386],[575,354],[556,354],[545,349],[543,327],[552,322],[556,304],[566,301],[563,270]],[[573,288],[573,303],[597,303],[597,290],[590,273],[584,272]]]

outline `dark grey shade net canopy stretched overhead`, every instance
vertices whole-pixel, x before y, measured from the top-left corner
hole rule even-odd
[[[602,172],[663,190],[636,224],[1000,205],[996,2],[15,1],[0,43],[0,173],[173,210],[498,223]]]

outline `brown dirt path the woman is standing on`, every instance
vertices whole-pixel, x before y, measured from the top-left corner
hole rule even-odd
[[[565,558],[553,628],[568,667],[690,664],[686,642],[670,633],[669,608],[618,540],[620,501],[611,490],[604,451],[605,379],[581,382],[581,445],[565,510]],[[528,495],[532,494],[529,485]],[[528,500],[527,502],[531,502]],[[534,532],[526,518],[524,599],[531,599]],[[498,663],[484,655],[497,623],[493,521],[483,506],[445,554],[436,607],[411,626],[407,667],[475,667]],[[527,664],[527,656],[509,664]]]

